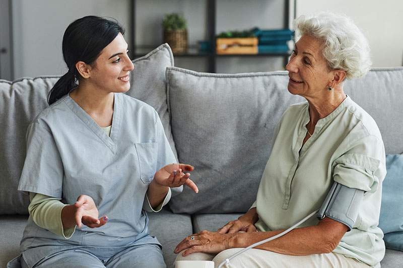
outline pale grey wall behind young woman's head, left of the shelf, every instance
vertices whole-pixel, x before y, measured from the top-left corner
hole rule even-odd
[[[64,30],[74,20],[109,16],[126,29],[129,0],[13,0],[14,78],[66,72],[61,52]],[[130,40],[130,32],[126,33]]]

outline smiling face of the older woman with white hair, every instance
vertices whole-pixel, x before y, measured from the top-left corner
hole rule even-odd
[[[308,35],[302,36],[295,44],[286,69],[290,77],[288,91],[305,98],[323,94],[334,77],[321,53],[320,40]]]

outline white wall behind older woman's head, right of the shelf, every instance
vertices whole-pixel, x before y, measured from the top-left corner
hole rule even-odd
[[[318,11],[344,13],[354,20],[368,38],[373,67],[402,65],[402,0],[297,0],[297,17]]]

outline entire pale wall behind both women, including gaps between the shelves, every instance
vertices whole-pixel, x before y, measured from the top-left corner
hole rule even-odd
[[[283,27],[286,0],[217,0],[216,32]],[[293,0],[290,0],[291,4]],[[110,16],[126,28],[130,40],[130,0],[13,0],[14,78],[63,74],[61,41],[65,28],[86,15]],[[318,10],[343,12],[367,35],[374,66],[400,66],[403,60],[403,1],[297,0],[297,15]],[[161,22],[166,13],[179,12],[188,21],[189,44],[208,38],[207,0],[137,0],[137,45],[162,43]],[[292,10],[292,7],[291,7]],[[292,17],[293,14],[290,14]],[[175,58],[175,65],[206,71],[206,58]],[[281,57],[217,58],[217,72],[283,69]]]

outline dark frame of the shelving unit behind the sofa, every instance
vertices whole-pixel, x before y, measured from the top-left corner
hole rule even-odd
[[[218,57],[283,57],[284,66],[286,66],[288,59],[291,55],[291,51],[284,53],[260,53],[260,54],[216,54],[216,14],[217,14],[217,5],[216,2],[218,0],[207,0],[207,28],[209,31],[209,41],[211,44],[212,52],[205,53],[183,53],[183,54],[174,54],[174,57],[208,57],[208,72],[216,72],[216,59]],[[284,28],[288,29],[290,27],[290,2],[291,0],[286,0],[284,4]],[[136,52],[136,0],[131,0],[130,2],[130,21],[131,21],[131,38],[130,38],[130,51],[134,57],[141,57],[146,54],[137,53]],[[294,14],[296,15],[296,0],[294,0]],[[148,46],[143,46],[148,47]],[[155,46],[150,46],[153,48]]]

